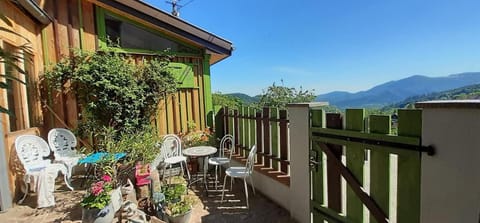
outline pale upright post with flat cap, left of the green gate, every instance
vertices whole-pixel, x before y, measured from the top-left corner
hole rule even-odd
[[[310,222],[310,108],[328,103],[287,105],[290,121],[290,215]]]

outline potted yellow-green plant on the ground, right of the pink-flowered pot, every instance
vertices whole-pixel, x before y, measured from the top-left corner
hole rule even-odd
[[[164,212],[171,223],[187,223],[192,215],[192,199],[186,195],[184,184],[172,184],[162,188],[165,195]]]

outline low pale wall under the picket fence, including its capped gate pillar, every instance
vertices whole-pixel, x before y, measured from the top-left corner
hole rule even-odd
[[[310,109],[328,103],[302,103],[288,105],[290,121],[290,187],[261,173],[254,172],[255,189],[278,205],[290,211],[299,223],[310,217]],[[241,165],[232,160],[232,165]]]

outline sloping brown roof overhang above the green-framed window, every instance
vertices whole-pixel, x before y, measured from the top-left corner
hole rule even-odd
[[[139,0],[90,0],[106,5],[155,26],[155,28],[205,49],[211,54],[210,64],[232,55],[233,46],[213,33],[192,25]]]

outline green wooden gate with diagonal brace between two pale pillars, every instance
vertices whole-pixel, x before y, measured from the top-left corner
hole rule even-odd
[[[419,222],[421,127],[421,110],[311,110],[313,222]]]

